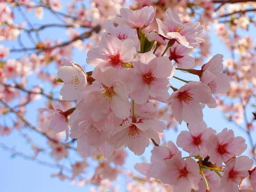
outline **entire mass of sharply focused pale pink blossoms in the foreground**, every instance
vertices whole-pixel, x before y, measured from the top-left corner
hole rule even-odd
[[[174,191],[239,191],[253,165],[240,156],[247,147],[245,140],[234,137],[232,130],[216,134],[207,128],[202,113],[204,104],[217,106],[212,94],[229,89],[229,78],[221,73],[223,56],[217,54],[200,70],[194,69],[195,59],[188,53],[204,41],[203,27],[199,22],[183,24],[175,11],[167,9],[165,22],[157,18],[158,30],[148,32],[155,13],[152,6],[135,11],[122,8],[121,17],[115,19],[117,27],[107,20],[99,46],[87,54],[87,63],[94,67],[90,73],[62,59],[57,75],[65,84],[60,95],[63,100],[76,100],[75,109],[57,112],[65,116],[67,124],[62,127],[67,131],[69,123],[70,137],[77,139],[77,151],[84,158],[97,150],[110,157],[122,146],[142,155],[152,141],[151,164],[136,168],[148,178],[174,185]],[[178,78],[176,70],[197,75],[200,81]],[[171,78],[185,84],[175,88]],[[180,133],[177,145],[189,157],[182,158],[171,141],[159,146],[159,133],[166,124],[156,118],[155,101],[166,103],[180,124],[188,124],[189,131]],[[57,123],[52,127],[61,131]]]

